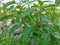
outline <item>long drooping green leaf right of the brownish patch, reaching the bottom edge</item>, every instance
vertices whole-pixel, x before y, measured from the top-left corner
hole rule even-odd
[[[32,28],[30,28],[30,27],[27,27],[27,28],[24,29],[24,31],[21,34],[21,38],[20,38],[20,44],[21,45],[29,44],[28,43],[28,41],[29,41],[28,39],[30,37],[31,31],[32,31]]]

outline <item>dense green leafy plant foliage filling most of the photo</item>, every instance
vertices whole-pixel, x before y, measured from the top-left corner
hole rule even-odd
[[[44,4],[44,2],[20,1],[15,0],[3,4],[0,8],[0,21],[12,19],[12,24],[24,25],[21,35],[13,36],[18,25],[8,28],[0,35],[1,45],[59,45],[60,26],[57,4]],[[33,5],[31,5],[33,4]],[[27,5],[27,7],[26,7]],[[12,34],[11,34],[12,33]]]

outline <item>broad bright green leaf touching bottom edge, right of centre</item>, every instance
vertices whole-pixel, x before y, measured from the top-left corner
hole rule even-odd
[[[49,33],[43,33],[40,39],[39,45],[50,45]]]

